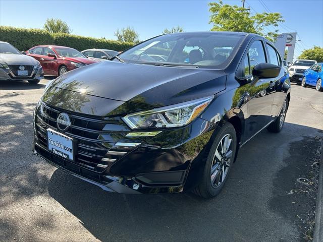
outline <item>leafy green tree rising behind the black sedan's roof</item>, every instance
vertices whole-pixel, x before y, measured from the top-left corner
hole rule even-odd
[[[278,24],[285,22],[280,13],[256,13],[251,15],[249,9],[237,5],[223,5],[209,3],[211,13],[209,23],[213,24],[211,31],[234,31],[259,34],[268,40],[274,41],[278,33]],[[274,27],[270,31],[268,27]]]

